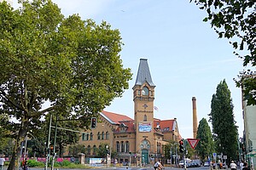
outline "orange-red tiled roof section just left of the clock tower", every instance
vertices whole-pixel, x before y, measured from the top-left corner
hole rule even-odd
[[[108,119],[109,122],[119,124],[120,122],[124,121],[133,121],[129,116],[120,115],[117,113],[112,113],[108,111],[102,111],[102,115]]]

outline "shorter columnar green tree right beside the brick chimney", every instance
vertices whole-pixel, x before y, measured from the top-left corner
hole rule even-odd
[[[207,157],[212,156],[214,144],[211,128],[209,127],[206,118],[202,118],[199,122],[196,139],[200,139],[200,141],[195,147],[195,150],[201,157],[201,161],[207,161]]]

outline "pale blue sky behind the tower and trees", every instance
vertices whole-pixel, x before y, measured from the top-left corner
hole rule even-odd
[[[219,82],[228,84],[236,126],[243,131],[241,88],[234,78],[244,68],[233,54],[229,40],[218,39],[207,12],[189,0],[52,0],[66,17],[79,14],[97,24],[107,21],[118,29],[125,45],[120,52],[124,68],[133,74],[129,89],[105,111],[134,118],[133,90],[140,59],[148,59],[154,88],[154,117],[177,118],[183,139],[193,138],[192,97],[196,98],[198,122],[209,120],[212,94]],[[14,0],[17,7],[17,0]],[[211,122],[208,122],[212,127]]]

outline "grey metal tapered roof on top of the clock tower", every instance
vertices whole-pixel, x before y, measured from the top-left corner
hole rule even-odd
[[[143,85],[148,82],[149,86],[155,86],[148,67],[148,59],[140,59],[135,85]]]

